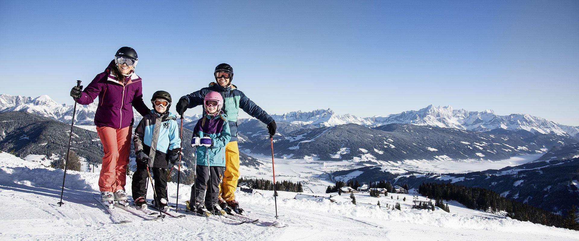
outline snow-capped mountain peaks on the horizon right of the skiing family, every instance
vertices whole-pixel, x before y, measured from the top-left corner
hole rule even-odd
[[[420,110],[409,110],[388,116],[356,117],[350,114],[339,115],[331,109],[313,110],[312,112],[290,112],[272,115],[277,121],[287,121],[297,125],[315,125],[331,127],[342,124],[358,124],[377,127],[387,124],[431,125],[443,128],[466,129],[469,131],[490,131],[502,128],[515,131],[523,129],[533,134],[556,134],[579,137],[579,127],[562,125],[544,118],[529,114],[510,114],[498,116],[493,110],[470,112],[464,109],[454,110],[452,106],[436,107],[429,105]]]

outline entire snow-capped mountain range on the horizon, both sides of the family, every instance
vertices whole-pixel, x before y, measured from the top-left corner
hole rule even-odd
[[[97,105],[98,103],[91,103],[85,106],[78,105],[76,124],[91,125]],[[72,106],[59,104],[47,95],[31,98],[1,94],[0,112],[12,111],[25,111],[39,116],[51,117],[64,123],[69,123],[72,116]],[[136,111],[134,113],[135,123],[138,123],[140,114]],[[196,121],[199,117],[200,114],[186,115],[184,123],[188,124]],[[579,138],[579,127],[558,124],[544,118],[530,116],[529,114],[498,116],[492,110],[470,112],[464,109],[454,110],[451,106],[436,107],[429,105],[420,110],[363,118],[352,116],[351,114],[339,115],[331,109],[319,109],[312,112],[289,112],[281,115],[273,114],[272,117],[277,123],[286,122],[304,128],[332,127],[343,124],[358,124],[367,127],[378,127],[387,124],[416,124],[469,131],[490,131],[497,128],[511,131],[526,130],[533,134],[555,134]],[[244,122],[245,120],[240,119],[239,121]]]

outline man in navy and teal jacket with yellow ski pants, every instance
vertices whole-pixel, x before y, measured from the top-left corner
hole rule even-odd
[[[237,146],[237,116],[239,108],[252,117],[258,118],[267,125],[270,137],[276,134],[276,122],[265,110],[251,101],[237,86],[231,84],[233,80],[233,68],[228,64],[219,64],[215,67],[215,82],[211,82],[209,87],[202,88],[191,94],[185,95],[177,103],[177,113],[181,116],[188,108],[203,105],[203,98],[210,91],[216,91],[223,97],[223,112],[227,115],[231,140],[225,147],[225,173],[219,191],[219,205],[224,208],[230,206],[233,209],[239,208],[239,203],[235,201],[235,188],[239,179],[239,147]]]

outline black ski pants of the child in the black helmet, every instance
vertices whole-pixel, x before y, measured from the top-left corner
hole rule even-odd
[[[167,169],[149,167],[149,170],[151,171],[151,175],[155,181],[155,192],[157,198],[167,199]],[[135,170],[135,174],[133,175],[133,199],[136,199],[139,196],[146,196],[146,181],[148,178],[149,175],[146,172],[146,164],[137,161],[137,170]]]

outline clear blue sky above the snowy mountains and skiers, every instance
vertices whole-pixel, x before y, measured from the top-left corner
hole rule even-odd
[[[575,0],[3,0],[0,93],[72,104],[75,80],[86,86],[130,46],[145,99],[206,87],[226,62],[273,114],[433,104],[577,126],[578,13]]]

